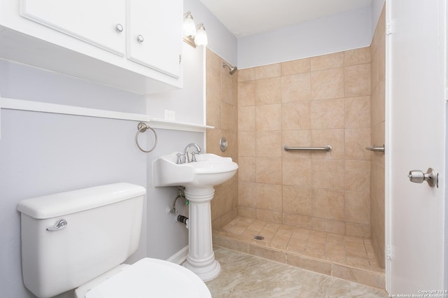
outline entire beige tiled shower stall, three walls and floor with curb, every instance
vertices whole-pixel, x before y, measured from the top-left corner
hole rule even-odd
[[[384,288],[384,155],[365,150],[384,144],[384,11],[367,48],[233,76],[221,62],[207,50],[207,151],[239,171],[216,187],[214,244]]]

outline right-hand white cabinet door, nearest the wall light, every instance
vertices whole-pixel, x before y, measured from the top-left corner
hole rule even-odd
[[[127,0],[127,57],[179,78],[182,0]]]

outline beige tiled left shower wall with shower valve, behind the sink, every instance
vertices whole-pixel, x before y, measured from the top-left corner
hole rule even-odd
[[[230,76],[228,69],[223,69],[224,61],[211,50],[206,53],[206,97],[207,125],[215,129],[207,129],[207,152],[232,157],[238,162],[238,107],[237,107],[237,74]],[[228,140],[228,149],[221,152],[219,140]],[[213,229],[221,229],[238,213],[238,180],[237,175],[228,182],[215,187],[214,199],[211,201],[211,219]]]

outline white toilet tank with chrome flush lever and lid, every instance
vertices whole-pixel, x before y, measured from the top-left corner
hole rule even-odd
[[[145,193],[116,183],[20,201],[25,286],[53,297],[124,262],[139,246]]]

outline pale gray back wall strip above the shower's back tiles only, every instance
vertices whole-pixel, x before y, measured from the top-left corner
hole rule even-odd
[[[370,6],[238,38],[238,67],[285,62],[370,45]]]

